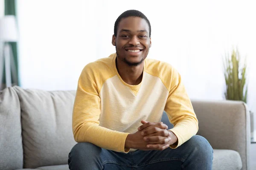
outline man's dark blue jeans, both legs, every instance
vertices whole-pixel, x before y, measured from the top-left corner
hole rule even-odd
[[[212,170],[213,150],[202,136],[176,149],[120,153],[91,143],[78,143],[69,153],[70,170]]]

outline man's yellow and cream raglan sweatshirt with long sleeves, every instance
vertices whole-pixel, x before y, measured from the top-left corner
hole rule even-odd
[[[166,111],[176,148],[198,131],[198,120],[180,74],[169,64],[145,59],[143,79],[129,85],[116,69],[116,54],[87,64],[79,77],[73,108],[76,142],[127,153],[125,140],[142,125],[141,120],[160,122]]]

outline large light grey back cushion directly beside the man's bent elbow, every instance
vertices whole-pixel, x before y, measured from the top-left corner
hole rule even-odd
[[[25,90],[20,99],[24,168],[67,164],[76,144],[72,132],[75,91]]]

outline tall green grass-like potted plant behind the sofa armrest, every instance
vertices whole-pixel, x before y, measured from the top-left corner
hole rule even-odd
[[[227,100],[241,100],[247,103],[247,63],[241,61],[238,49],[233,49],[231,56],[224,58],[224,76]],[[253,113],[250,111],[251,137],[253,138]]]

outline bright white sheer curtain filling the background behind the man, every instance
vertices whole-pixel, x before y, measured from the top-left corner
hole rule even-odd
[[[256,11],[250,0],[17,1],[21,86],[75,90],[84,65],[115,52],[114,22],[128,9],[148,17],[148,57],[177,68],[192,99],[224,99],[222,57],[238,47],[248,59],[248,105],[256,113]]]

